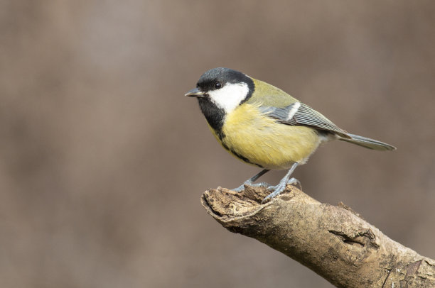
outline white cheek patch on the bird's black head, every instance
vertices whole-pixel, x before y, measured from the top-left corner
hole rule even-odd
[[[226,113],[230,113],[246,98],[248,92],[249,87],[245,82],[227,83],[221,89],[208,92],[208,95],[216,105],[224,109]]]

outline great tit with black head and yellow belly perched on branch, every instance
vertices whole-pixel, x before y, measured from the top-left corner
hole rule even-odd
[[[305,164],[321,143],[343,140],[373,150],[395,150],[394,146],[353,135],[310,106],[279,88],[247,74],[218,67],[205,72],[196,88],[186,93],[198,99],[210,131],[230,154],[263,170],[244,185],[268,187],[263,201],[279,195],[296,166]],[[269,170],[289,170],[276,186],[253,184]]]

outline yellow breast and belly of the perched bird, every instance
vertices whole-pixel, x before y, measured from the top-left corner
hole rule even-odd
[[[321,143],[314,129],[276,123],[262,115],[257,106],[245,104],[227,115],[222,145],[269,170],[289,169],[294,162],[304,164]],[[219,140],[219,139],[218,139]]]

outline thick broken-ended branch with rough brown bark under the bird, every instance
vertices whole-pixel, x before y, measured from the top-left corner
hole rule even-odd
[[[210,189],[208,214],[234,233],[255,238],[336,287],[435,287],[435,261],[385,236],[344,204],[321,204],[293,186],[261,204],[264,188]]]

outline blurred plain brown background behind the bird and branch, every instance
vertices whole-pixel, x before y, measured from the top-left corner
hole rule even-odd
[[[331,287],[200,206],[259,172],[183,96],[218,66],[396,145],[330,143],[294,176],[435,257],[434,15],[429,0],[0,1],[0,287]]]

